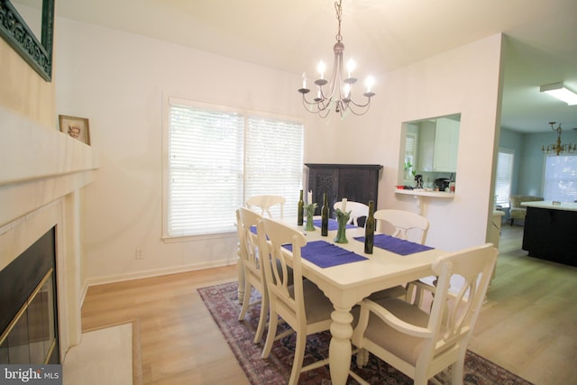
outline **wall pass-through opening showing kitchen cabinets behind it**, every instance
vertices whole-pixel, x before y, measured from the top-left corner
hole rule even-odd
[[[436,179],[455,181],[460,129],[461,114],[405,122],[399,184],[416,187],[417,175],[422,177],[423,188],[435,188]]]

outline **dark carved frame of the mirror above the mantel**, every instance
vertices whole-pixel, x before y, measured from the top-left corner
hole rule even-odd
[[[46,81],[52,80],[54,1],[42,0],[41,42],[10,0],[0,0],[0,35]]]

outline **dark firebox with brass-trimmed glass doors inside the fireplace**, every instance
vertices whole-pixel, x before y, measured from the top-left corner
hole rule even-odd
[[[60,363],[55,228],[0,271],[0,364]]]

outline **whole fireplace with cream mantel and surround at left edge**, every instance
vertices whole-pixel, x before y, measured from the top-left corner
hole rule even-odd
[[[23,289],[25,294],[18,294],[24,297],[23,302],[29,303],[26,310],[19,307],[19,313],[32,311],[34,307],[46,310],[41,316],[28,316],[28,324],[32,319],[36,325],[43,314],[50,315],[50,311],[51,324],[42,321],[39,324],[42,326],[34,326],[34,334],[29,337],[32,346],[24,344],[21,335],[15,335],[18,341],[11,342],[10,346],[22,348],[13,349],[13,355],[26,349],[31,355],[32,349],[33,361],[41,360],[36,357],[46,354],[48,363],[63,362],[69,348],[80,343],[80,307],[87,289],[82,270],[81,200],[84,188],[96,177],[98,153],[54,127],[41,125],[0,105],[0,163],[3,164],[0,168],[0,271],[19,260],[45,236],[50,239],[52,252],[46,259],[51,261],[51,267],[44,266],[43,270],[34,272],[35,289],[28,287]],[[24,265],[38,266],[37,263]],[[19,278],[19,274],[9,276]],[[29,280],[17,279],[6,286],[17,287],[21,281]],[[0,296],[5,292],[4,284],[5,278],[0,278]],[[31,298],[31,293],[40,297]],[[0,334],[5,330],[2,325],[14,324],[13,313],[14,310],[4,318],[5,302],[0,302]],[[20,330],[20,325],[14,324],[14,327]],[[41,349],[38,348],[40,341]],[[0,353],[3,357],[5,349],[9,348],[3,342]]]

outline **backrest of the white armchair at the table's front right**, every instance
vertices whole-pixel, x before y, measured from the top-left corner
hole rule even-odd
[[[442,354],[452,355],[459,351],[464,357],[498,253],[492,243],[486,243],[441,256],[433,263],[438,280],[427,325],[433,335],[424,345],[417,365],[422,360],[442,362]],[[450,292],[454,275],[464,280],[456,294]]]

